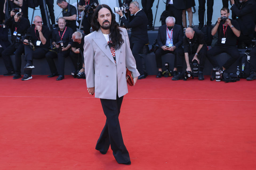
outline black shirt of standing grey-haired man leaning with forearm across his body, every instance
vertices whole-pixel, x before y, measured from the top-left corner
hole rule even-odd
[[[72,15],[77,15],[77,9],[68,3],[67,8],[62,10],[62,15],[63,16],[72,16]],[[70,27],[73,29],[73,31],[77,31],[77,25],[76,25],[76,20],[66,20],[66,26]]]

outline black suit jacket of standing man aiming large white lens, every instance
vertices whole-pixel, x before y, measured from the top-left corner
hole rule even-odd
[[[131,22],[127,21],[124,16],[121,20],[127,28],[131,28],[130,41],[132,43],[147,44],[149,42],[149,37],[147,35],[147,15],[143,9],[137,12]]]

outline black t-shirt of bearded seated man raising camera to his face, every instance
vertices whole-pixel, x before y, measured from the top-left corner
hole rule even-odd
[[[234,25],[234,27],[238,31],[240,31],[238,22],[233,19],[230,19],[230,21],[231,21],[231,24]],[[217,22],[215,23],[215,25],[217,24]],[[224,32],[223,32],[223,24],[219,24],[217,45],[224,45],[224,46],[237,45],[237,36],[234,34],[234,32],[232,31],[232,29],[230,28],[229,25],[227,26],[227,29],[226,29],[226,26],[224,26],[224,31],[225,31],[225,36],[224,36]],[[225,44],[221,43],[222,38],[226,38]]]

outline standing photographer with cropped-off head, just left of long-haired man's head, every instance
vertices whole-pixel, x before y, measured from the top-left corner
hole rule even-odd
[[[90,8],[88,8],[89,6]],[[90,33],[91,17],[95,11],[95,8],[99,5],[98,0],[80,0],[78,5],[78,11],[84,11],[83,16],[83,31],[86,35]],[[90,9],[90,11],[88,9]],[[92,10],[93,9],[93,10]]]

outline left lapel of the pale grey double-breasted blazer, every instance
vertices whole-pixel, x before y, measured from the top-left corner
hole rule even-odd
[[[93,38],[94,42],[98,45],[98,47],[102,50],[102,52],[113,62],[114,62],[114,58],[111,54],[111,51],[109,49],[107,45],[107,41],[103,35],[103,33],[101,32],[101,29],[99,29],[96,32],[95,38]]]

